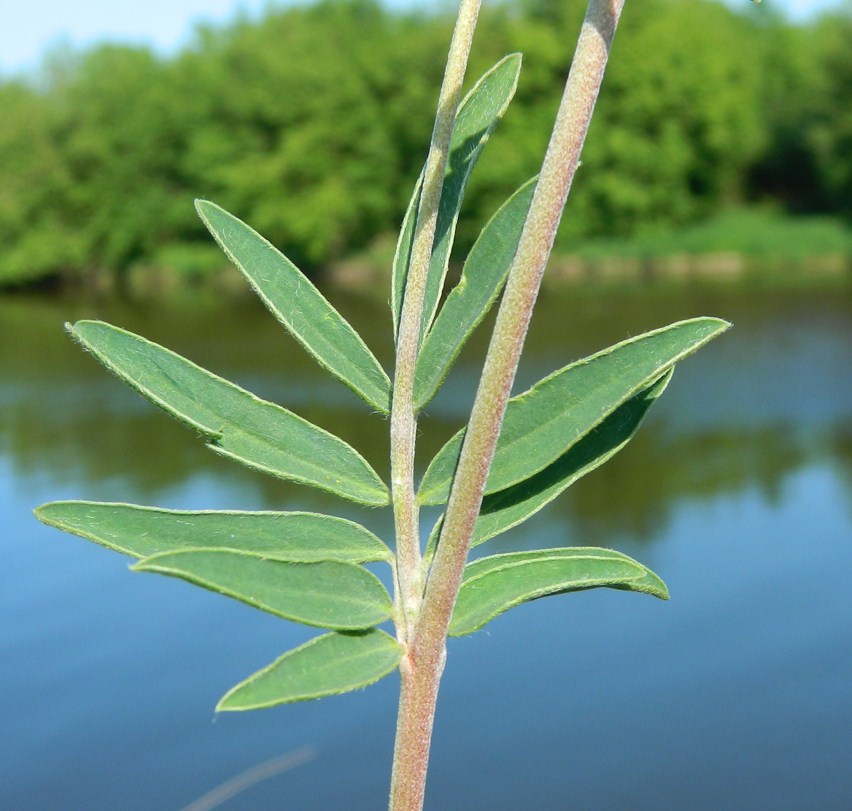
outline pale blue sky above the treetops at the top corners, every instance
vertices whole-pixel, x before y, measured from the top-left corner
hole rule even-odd
[[[396,0],[403,2],[424,0]],[[797,18],[838,2],[842,0],[764,0]],[[268,4],[269,0],[4,0],[0,73],[33,67],[47,48],[61,42],[85,46],[109,39],[168,51],[185,41],[199,20],[224,22],[239,10],[256,15]]]

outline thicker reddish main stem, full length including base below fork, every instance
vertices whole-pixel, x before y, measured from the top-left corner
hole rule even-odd
[[[541,176],[500,304],[440,542],[400,666],[402,692],[392,811],[422,808],[435,702],[453,606],[533,305],[579,165],[623,6],[624,0],[589,2]]]

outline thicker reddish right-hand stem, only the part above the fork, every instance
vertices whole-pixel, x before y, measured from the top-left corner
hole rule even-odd
[[[471,411],[415,644],[446,637],[506,403],[624,0],[591,0]]]

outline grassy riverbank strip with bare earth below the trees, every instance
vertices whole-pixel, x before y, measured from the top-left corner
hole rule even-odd
[[[305,272],[323,285],[385,295],[394,248],[394,237],[386,235],[377,238],[367,251]],[[193,261],[181,261],[187,253]],[[138,264],[123,274],[93,270],[83,278],[42,283],[38,288],[95,295],[120,293],[129,298],[164,298],[199,291],[228,297],[249,295],[242,276],[225,263],[212,243],[199,244],[189,252],[167,249],[162,254],[174,261]],[[199,256],[204,261],[199,261]],[[457,276],[460,264],[454,270]],[[722,212],[680,230],[557,245],[544,278],[545,287],[553,289],[658,285],[823,288],[850,284],[852,227],[844,221],[748,208]]]

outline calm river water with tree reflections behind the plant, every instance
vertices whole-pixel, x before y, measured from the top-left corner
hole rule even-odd
[[[387,361],[386,307],[336,301]],[[734,329],[681,364],[626,450],[486,547],[611,546],[654,568],[671,601],[550,598],[452,640],[427,807],[852,808],[848,290],[546,295],[516,390],[693,315]],[[389,538],[386,511],[211,454],[65,337],[62,322],[82,317],[280,402],[387,473],[387,423],[251,303],[0,299],[0,808],[182,811],[288,753],[291,768],[216,807],[382,808],[395,676],[217,717],[229,687],[314,633],[133,574],[31,509],[61,498],[309,509]],[[430,406],[423,460],[461,424],[483,346],[472,342]]]

